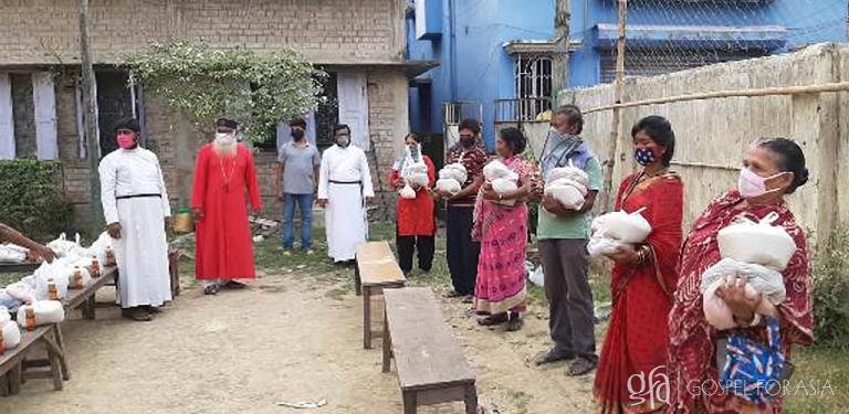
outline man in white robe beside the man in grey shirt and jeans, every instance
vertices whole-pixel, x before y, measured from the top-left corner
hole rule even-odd
[[[350,145],[350,128],[334,128],[336,145],[322,156],[318,205],[325,208],[327,254],[334,262],[353,261],[357,244],[368,238],[366,200],[375,197],[366,153]]]

